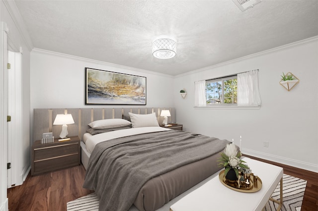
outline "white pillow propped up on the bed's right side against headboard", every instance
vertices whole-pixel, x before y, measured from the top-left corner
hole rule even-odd
[[[156,113],[150,114],[135,114],[128,112],[132,127],[155,127],[158,126]]]

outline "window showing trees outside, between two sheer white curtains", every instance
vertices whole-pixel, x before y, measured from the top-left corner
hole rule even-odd
[[[211,79],[206,81],[206,105],[237,106],[238,77],[237,75]]]

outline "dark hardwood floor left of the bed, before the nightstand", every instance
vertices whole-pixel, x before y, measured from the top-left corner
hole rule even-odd
[[[38,176],[29,174],[22,185],[7,189],[9,211],[66,211],[66,203],[91,191],[82,187],[83,165]]]

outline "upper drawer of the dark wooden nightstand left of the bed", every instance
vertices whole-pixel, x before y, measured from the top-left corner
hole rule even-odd
[[[35,148],[34,161],[78,153],[79,143],[65,143],[49,147]]]

